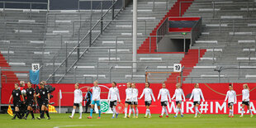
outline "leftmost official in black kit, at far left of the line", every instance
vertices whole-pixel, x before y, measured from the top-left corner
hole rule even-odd
[[[12,90],[12,95],[10,97],[10,100],[9,100],[9,104],[11,104],[11,100],[12,100],[12,97],[13,97],[13,106],[15,107],[15,116],[12,118],[12,120],[16,119],[16,117],[18,117],[19,119],[21,119],[21,113],[20,113],[20,109],[19,107],[21,107],[21,97],[22,97],[22,101],[24,102],[24,97],[23,95],[21,95],[21,90],[19,90],[19,84],[18,83],[15,83],[14,85],[14,88]]]

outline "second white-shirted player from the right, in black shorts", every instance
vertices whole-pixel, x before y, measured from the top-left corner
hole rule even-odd
[[[229,88],[230,88],[230,90],[228,92],[226,92],[224,102],[226,102],[226,100],[229,98],[229,100],[228,100],[228,106],[230,108],[229,117],[234,117],[233,106],[234,106],[234,104],[236,104],[236,92],[233,90],[232,84],[229,85]]]

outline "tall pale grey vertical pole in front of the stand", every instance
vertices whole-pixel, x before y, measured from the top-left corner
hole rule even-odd
[[[133,0],[133,35],[132,35],[132,61],[133,63],[133,72],[137,71],[137,0]]]

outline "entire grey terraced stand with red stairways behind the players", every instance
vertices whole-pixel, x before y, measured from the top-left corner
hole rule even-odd
[[[7,74],[8,82],[17,82],[17,78],[26,80],[31,64],[40,63],[40,78],[48,83],[92,83],[95,79],[99,83],[129,80],[144,83],[146,77],[151,83],[175,83],[179,74],[171,73],[173,64],[183,64],[185,83],[218,83],[219,79],[221,82],[254,82],[253,1],[180,2],[166,4],[166,0],[159,0],[153,5],[148,0],[138,1],[135,73],[131,63],[132,3],[125,9],[115,8],[114,17],[111,8],[101,12],[101,5],[92,12],[6,10],[0,25],[0,59],[1,67],[11,66],[12,72],[2,73]],[[186,54],[159,53],[154,41],[156,30],[167,17],[180,15],[180,4],[183,17],[201,17],[201,36]],[[214,69],[221,70],[220,78]],[[145,72],[150,71],[165,73],[145,76]]]

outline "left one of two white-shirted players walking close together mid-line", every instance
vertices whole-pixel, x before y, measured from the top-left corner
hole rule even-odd
[[[132,101],[131,83],[127,83],[126,86],[127,86],[127,88],[126,88],[126,103],[125,103],[125,116],[124,116],[124,118],[130,118],[130,116],[127,116],[127,109],[129,107],[129,105],[131,105],[131,101]],[[131,111],[131,108],[130,108],[130,111]]]

